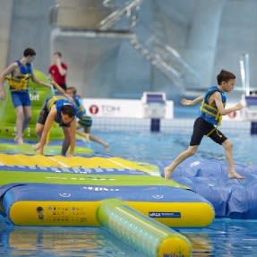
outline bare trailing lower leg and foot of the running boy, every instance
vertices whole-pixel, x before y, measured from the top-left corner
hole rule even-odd
[[[164,168],[165,179],[168,180],[172,172],[174,171],[174,169],[180,163],[182,163],[186,158],[193,156],[193,154],[196,152],[197,149],[198,149],[198,145],[194,145],[194,146],[189,146],[187,150],[184,150],[183,152],[181,152],[169,166]]]

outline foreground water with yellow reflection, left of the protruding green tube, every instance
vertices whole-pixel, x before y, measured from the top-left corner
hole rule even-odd
[[[13,227],[1,224],[0,256],[141,256],[93,227]]]

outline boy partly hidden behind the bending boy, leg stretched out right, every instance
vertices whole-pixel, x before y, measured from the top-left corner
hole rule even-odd
[[[66,90],[66,94],[73,98],[75,105],[78,107],[78,123],[76,133],[84,137],[86,141],[95,141],[102,145],[106,150],[108,150],[109,144],[106,141],[103,141],[98,136],[90,133],[92,118],[90,116],[87,116],[86,109],[85,107],[83,107],[81,98],[77,95],[77,90],[74,87],[68,87]],[[83,128],[84,132],[81,132],[79,130],[81,127]]]

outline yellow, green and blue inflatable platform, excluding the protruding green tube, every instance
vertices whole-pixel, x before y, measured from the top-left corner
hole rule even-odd
[[[149,167],[123,158],[0,154],[0,163],[3,214],[15,225],[98,227],[99,203],[108,198],[168,227],[206,227],[214,218],[210,202],[201,195],[150,176]],[[54,207],[64,213],[58,216]]]

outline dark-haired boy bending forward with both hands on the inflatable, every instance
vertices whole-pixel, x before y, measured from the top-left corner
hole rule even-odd
[[[64,131],[64,141],[61,154],[73,156],[76,141],[76,111],[73,102],[64,96],[53,96],[47,99],[39,113],[36,124],[36,133],[39,136],[39,143],[34,150],[39,150],[39,154],[44,154],[44,147],[47,143],[47,134],[50,132],[52,124],[56,122]]]

